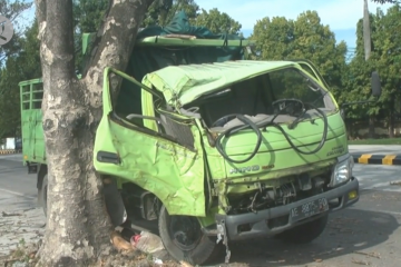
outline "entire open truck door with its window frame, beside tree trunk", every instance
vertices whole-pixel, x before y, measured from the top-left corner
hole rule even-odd
[[[110,73],[123,79],[115,100]],[[141,101],[141,83],[111,68],[104,75],[104,113],[94,150],[96,170],[153,192],[170,215],[205,216],[205,165],[196,126],[190,127],[193,147],[179,144],[164,134],[163,118],[147,116],[153,115],[154,103]],[[146,120],[156,121],[156,129],[146,127]]]

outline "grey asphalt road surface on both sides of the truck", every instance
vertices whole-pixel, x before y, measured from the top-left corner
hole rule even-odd
[[[351,151],[355,149],[351,147]],[[359,149],[393,154],[399,148]],[[27,174],[20,160],[20,155],[0,156],[0,198],[16,195],[16,199],[35,205],[36,177]],[[332,214],[321,237],[304,246],[288,246],[273,239],[232,244],[231,261],[237,263],[236,266],[274,267],[400,266],[401,186],[390,185],[401,180],[400,172],[401,166],[355,165],[361,199]]]

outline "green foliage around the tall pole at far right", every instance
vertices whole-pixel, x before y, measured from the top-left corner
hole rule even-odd
[[[388,119],[400,108],[401,99],[401,8],[395,4],[384,14],[378,10],[370,14],[372,32],[372,53],[364,60],[362,20],[356,27],[356,55],[349,65],[344,77],[346,92],[342,101],[371,99],[371,72],[378,70],[381,78],[382,95],[375,105],[352,106],[348,117],[360,118],[365,115],[384,115]]]

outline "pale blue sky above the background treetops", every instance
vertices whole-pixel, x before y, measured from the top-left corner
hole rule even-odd
[[[205,9],[217,8],[242,24],[242,32],[248,37],[255,22],[265,17],[285,17],[296,19],[306,11],[317,11],[323,24],[329,24],[335,33],[338,42],[344,40],[349,48],[354,48],[356,22],[363,16],[363,0],[195,0]],[[369,1],[370,12],[380,7],[387,11],[391,4],[378,4]],[[35,7],[26,12],[26,17],[35,16]]]

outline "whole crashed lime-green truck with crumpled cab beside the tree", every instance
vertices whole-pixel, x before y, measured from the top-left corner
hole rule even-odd
[[[233,240],[310,243],[359,200],[341,109],[311,62],[248,60],[247,40],[204,28],[157,30],[139,32],[126,71],[104,71],[94,166],[123,199],[107,206],[115,225],[154,230],[177,260],[223,247],[227,261]],[[124,79],[116,101],[110,73]],[[46,211],[41,80],[20,90],[23,161]]]

